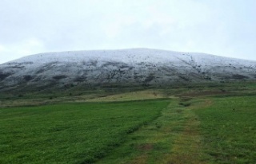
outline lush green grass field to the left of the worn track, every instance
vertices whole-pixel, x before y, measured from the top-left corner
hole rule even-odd
[[[169,100],[0,110],[0,163],[90,163],[149,123]]]

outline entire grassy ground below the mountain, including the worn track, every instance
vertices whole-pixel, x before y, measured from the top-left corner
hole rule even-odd
[[[255,163],[252,86],[2,100],[0,163]]]

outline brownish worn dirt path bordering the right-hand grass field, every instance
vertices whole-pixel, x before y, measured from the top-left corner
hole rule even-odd
[[[207,163],[203,161],[205,154],[202,152],[202,136],[199,134],[200,121],[194,110],[210,106],[211,100],[204,100],[201,103],[186,107],[184,116],[187,118],[183,132],[177,136],[174,143],[172,154],[170,154],[168,163]]]

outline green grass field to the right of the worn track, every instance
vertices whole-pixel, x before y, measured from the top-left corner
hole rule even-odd
[[[256,162],[256,96],[211,99],[196,110],[204,151],[214,163]]]

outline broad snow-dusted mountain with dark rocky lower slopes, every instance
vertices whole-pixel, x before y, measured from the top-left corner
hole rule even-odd
[[[0,90],[255,79],[256,61],[156,49],[39,53],[0,64]]]

